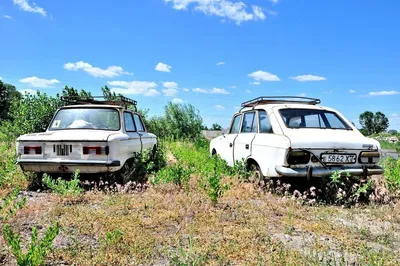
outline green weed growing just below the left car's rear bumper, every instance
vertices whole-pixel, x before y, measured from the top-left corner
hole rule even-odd
[[[75,171],[71,181],[66,181],[61,177],[54,180],[49,175],[44,174],[43,184],[50,188],[53,193],[63,197],[77,197],[83,192],[79,185],[79,170]]]

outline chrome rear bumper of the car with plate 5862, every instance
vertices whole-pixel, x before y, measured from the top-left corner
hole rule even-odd
[[[284,166],[276,166],[275,171],[285,177],[329,177],[336,171],[340,173],[349,173],[351,176],[370,176],[370,175],[381,175],[383,169],[379,166],[371,168],[351,168],[351,167],[330,167],[329,169],[322,167],[305,167],[305,168],[289,168]]]

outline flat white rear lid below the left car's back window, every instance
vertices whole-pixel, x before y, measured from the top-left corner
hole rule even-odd
[[[116,131],[104,130],[59,130],[32,133],[20,136],[17,141],[107,141]]]

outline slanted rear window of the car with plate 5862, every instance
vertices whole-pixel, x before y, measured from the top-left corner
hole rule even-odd
[[[280,114],[289,128],[329,128],[346,129],[351,127],[336,113],[317,109],[281,109]]]

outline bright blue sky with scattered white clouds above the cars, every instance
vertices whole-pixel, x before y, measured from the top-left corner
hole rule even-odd
[[[306,95],[400,129],[400,1],[1,0],[0,77],[50,95],[108,85],[226,127],[248,99]]]

